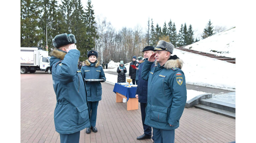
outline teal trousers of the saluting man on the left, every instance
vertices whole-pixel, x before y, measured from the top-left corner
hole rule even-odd
[[[61,143],[79,143],[80,131],[73,134],[60,134]]]

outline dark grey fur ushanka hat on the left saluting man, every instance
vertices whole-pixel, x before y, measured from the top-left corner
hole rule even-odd
[[[75,43],[77,43],[77,41],[73,34],[59,34],[52,39],[52,44],[55,48]]]

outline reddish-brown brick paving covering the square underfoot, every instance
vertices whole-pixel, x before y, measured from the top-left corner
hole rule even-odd
[[[40,71],[21,74],[20,82],[20,141],[60,142],[54,127],[56,95],[51,74]],[[103,94],[96,123],[98,132],[86,134],[83,129],[79,142],[152,142],[152,139],[136,140],[143,134],[140,105],[138,110],[127,111],[127,103],[115,102],[113,87],[102,83]],[[227,143],[234,140],[235,119],[196,108],[184,109],[180,126],[175,130],[177,143]]]

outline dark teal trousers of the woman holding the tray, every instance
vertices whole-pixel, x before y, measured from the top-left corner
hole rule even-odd
[[[88,105],[89,105],[89,114],[91,115],[91,126],[95,127],[99,101],[94,101],[94,102],[88,101]]]

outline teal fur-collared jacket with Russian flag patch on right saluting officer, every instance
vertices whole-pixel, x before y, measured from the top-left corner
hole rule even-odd
[[[155,62],[152,69],[153,62],[145,60],[141,72],[142,79],[148,80],[145,124],[158,129],[178,128],[187,100],[183,61],[171,58],[163,66]]]

